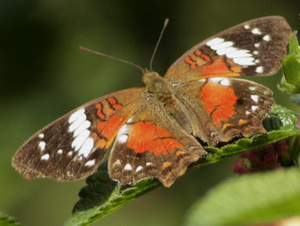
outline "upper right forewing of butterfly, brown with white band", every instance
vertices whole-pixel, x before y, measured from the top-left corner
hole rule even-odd
[[[290,35],[290,26],[280,16],[247,21],[192,47],[165,77],[272,75],[281,67]]]

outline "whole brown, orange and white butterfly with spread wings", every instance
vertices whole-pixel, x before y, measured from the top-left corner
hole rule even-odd
[[[165,187],[216,146],[265,133],[272,91],[233,77],[276,73],[291,28],[283,17],[247,21],[184,53],[164,77],[145,70],[145,88],[86,103],[33,135],[12,164],[27,179],[78,180],[97,170],[107,150],[108,172],[121,184],[155,177]]]

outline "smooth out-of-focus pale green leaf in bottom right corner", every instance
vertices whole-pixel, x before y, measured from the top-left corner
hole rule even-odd
[[[300,214],[300,171],[231,178],[199,200],[186,225],[252,225]]]

